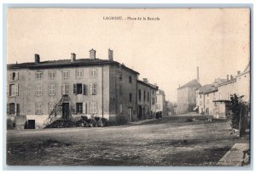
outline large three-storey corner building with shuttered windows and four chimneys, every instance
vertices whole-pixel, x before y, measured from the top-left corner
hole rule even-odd
[[[61,117],[97,115],[119,124],[137,121],[137,78],[139,73],[108,59],[35,61],[8,65],[8,115],[26,115],[31,127],[50,124],[49,115],[60,109]],[[153,98],[155,98],[153,96]],[[150,98],[153,99],[153,98]],[[147,98],[148,99],[148,98]]]

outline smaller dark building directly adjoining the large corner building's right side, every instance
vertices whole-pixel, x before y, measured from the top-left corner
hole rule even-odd
[[[158,87],[148,83],[148,79],[137,80],[137,118],[138,120],[154,118],[155,99]]]

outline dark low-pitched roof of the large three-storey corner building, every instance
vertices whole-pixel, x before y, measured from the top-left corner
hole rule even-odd
[[[133,73],[139,75],[136,70],[132,70],[123,64],[119,64],[117,61],[112,61],[108,59],[76,59],[71,61],[71,59],[58,59],[58,60],[48,60],[42,61],[40,63],[26,62],[20,64],[9,64],[7,68],[9,70],[13,69],[46,69],[46,68],[61,68],[61,67],[78,67],[78,66],[92,66],[92,65],[121,65],[122,68],[126,70],[131,70]]]

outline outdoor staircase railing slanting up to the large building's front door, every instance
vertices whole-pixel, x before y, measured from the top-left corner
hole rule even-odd
[[[55,104],[54,109],[51,110],[49,113],[49,116],[47,119],[44,120],[44,127],[49,126],[56,120],[62,118],[62,104],[63,102],[68,102],[68,96],[67,95],[62,95],[60,101]]]

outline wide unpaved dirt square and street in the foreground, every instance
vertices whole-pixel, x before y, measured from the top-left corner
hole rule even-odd
[[[9,131],[8,165],[214,166],[234,145],[230,122],[169,116],[135,126]]]

